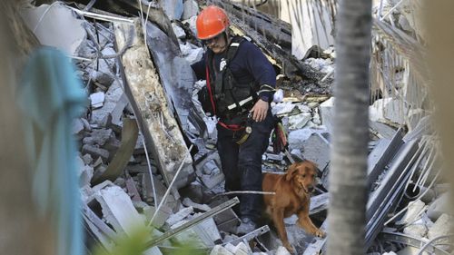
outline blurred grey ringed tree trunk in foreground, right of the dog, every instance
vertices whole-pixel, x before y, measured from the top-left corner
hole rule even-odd
[[[341,0],[337,20],[328,254],[365,254],[371,0]]]

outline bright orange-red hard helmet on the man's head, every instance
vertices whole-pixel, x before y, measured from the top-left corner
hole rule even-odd
[[[197,16],[195,26],[197,37],[201,40],[210,39],[227,29],[230,25],[229,17],[222,8],[210,5]]]

